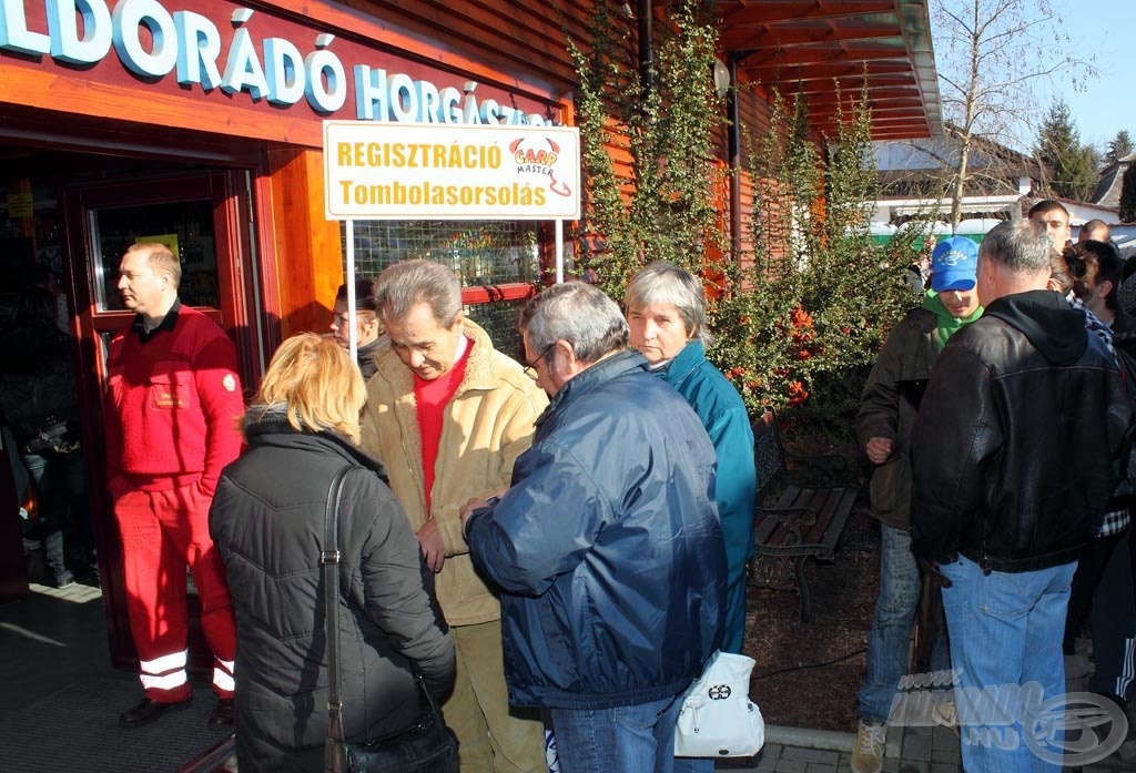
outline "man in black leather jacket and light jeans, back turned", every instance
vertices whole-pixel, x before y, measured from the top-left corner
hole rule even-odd
[[[1022,728],[1036,730],[1038,704],[1064,692],[1069,585],[1133,423],[1114,358],[1086,333],[1083,311],[1045,289],[1049,275],[1038,226],[987,234],[986,312],[943,350],[912,434],[912,544],[944,581],[968,771],[1045,768],[1035,758],[1045,738],[1027,746]],[[1006,712],[976,700],[1017,686]],[[1060,762],[1060,732],[1051,739]]]

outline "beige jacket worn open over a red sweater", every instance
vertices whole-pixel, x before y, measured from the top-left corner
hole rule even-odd
[[[470,497],[485,497],[509,485],[512,463],[533,442],[536,418],[548,397],[513,360],[493,348],[488,334],[470,320],[473,341],[466,376],[446,406],[434,465],[431,512],[423,493],[421,440],[412,373],[384,341],[375,352],[378,370],[367,381],[362,447],[381,459],[417,531],[437,521],[445,563],[437,575],[437,598],[451,625],[501,617],[496,596],[474,571],[458,512]]]

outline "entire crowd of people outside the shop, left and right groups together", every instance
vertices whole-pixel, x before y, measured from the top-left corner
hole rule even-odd
[[[934,701],[944,723],[989,722],[967,688],[1064,692],[1086,617],[1093,689],[1133,697],[1136,327],[1116,250],[1092,229],[1068,243],[1068,220],[1041,202],[980,245],[938,242],[864,386],[880,581],[855,773],[882,770],[928,599],[928,669],[955,679]],[[120,726],[192,698],[190,572],[209,725],[235,729],[242,771],[324,768],[329,656],[349,741],[417,726],[425,689],[463,773],[544,773],[550,739],[565,773],[713,770],[674,757],[675,722],[713,653],[743,650],[758,481],[696,276],[652,263],[621,306],[593,284],[548,287],[521,311],[521,363],[466,317],[451,270],[395,263],[341,286],[329,333],[283,342],[245,406],[234,346],[181,304],[179,274],[167,247],[130,247],[118,289],[135,317],[108,345],[107,485],[142,687]],[[968,771],[1056,767],[1025,743],[961,755]]]

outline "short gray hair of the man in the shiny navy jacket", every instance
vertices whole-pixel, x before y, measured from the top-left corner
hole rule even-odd
[[[545,288],[521,310],[520,329],[531,350],[543,352],[562,338],[584,362],[627,348],[629,338],[627,320],[616,302],[583,282]]]

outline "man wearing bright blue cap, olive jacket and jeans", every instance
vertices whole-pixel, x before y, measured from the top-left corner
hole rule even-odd
[[[884,764],[887,717],[908,671],[911,627],[922,579],[911,553],[910,437],[922,389],[943,345],[978,319],[975,292],[978,247],[969,238],[942,240],[932,253],[930,291],[887,337],[860,398],[857,435],[876,465],[871,514],[880,520],[879,596],[868,637],[868,673],[857,698],[860,723],[852,749],[854,773],[878,773]],[[949,667],[945,639],[932,654],[932,670]]]

